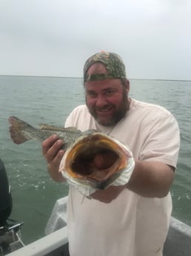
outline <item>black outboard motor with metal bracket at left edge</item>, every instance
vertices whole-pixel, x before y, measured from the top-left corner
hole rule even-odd
[[[10,220],[12,197],[4,164],[0,159],[0,256],[24,246],[20,238],[23,223]]]

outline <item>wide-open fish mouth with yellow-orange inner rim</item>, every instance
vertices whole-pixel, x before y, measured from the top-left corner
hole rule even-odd
[[[89,134],[66,151],[59,169],[67,177],[104,182],[127,166],[128,157],[127,148],[115,139],[106,134]]]

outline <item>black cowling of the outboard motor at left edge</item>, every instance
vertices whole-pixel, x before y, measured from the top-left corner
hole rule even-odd
[[[0,159],[0,226],[4,226],[12,211],[12,197],[4,163]]]

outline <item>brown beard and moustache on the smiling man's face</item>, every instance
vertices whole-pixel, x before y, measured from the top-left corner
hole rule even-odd
[[[87,104],[87,99],[86,99],[86,104]],[[100,125],[104,125],[104,126],[115,125],[117,122],[119,122],[121,119],[124,118],[124,116],[126,115],[127,111],[130,108],[130,104],[128,102],[128,96],[127,96],[126,91],[125,90],[123,91],[121,104],[118,106],[117,109],[116,109],[116,106],[113,104],[110,104],[110,106],[113,107],[113,109],[114,109],[113,115],[108,116],[108,118],[107,119],[105,118],[104,120],[99,119],[98,114],[96,113],[96,110],[100,109],[100,108],[96,108],[96,107],[90,108],[88,105],[87,105],[87,108],[88,108],[90,114],[96,119],[96,121]],[[104,108],[107,108],[107,105],[104,106]]]

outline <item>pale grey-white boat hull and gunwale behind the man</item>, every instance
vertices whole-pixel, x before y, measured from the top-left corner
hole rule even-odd
[[[60,255],[67,240],[67,197],[56,201],[45,228],[45,236],[9,256],[56,256]],[[164,243],[163,256],[191,255],[191,226],[171,217],[170,229]]]

